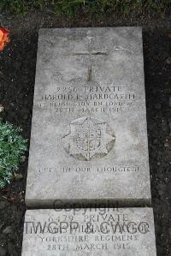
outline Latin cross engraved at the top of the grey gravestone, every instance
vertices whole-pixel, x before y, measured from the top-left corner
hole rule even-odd
[[[99,55],[108,55],[107,51],[95,51],[93,50],[93,40],[91,37],[88,38],[88,51],[77,51],[73,52],[72,55],[87,55],[89,56],[90,64],[88,67],[88,75],[87,75],[87,81],[92,80],[92,57],[93,56],[99,56]]]

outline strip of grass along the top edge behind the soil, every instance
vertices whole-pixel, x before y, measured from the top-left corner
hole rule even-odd
[[[74,18],[85,15],[165,15],[171,0],[0,0],[0,10],[27,15],[33,9],[50,9],[56,15]]]

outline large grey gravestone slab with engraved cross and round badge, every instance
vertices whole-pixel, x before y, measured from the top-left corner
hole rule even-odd
[[[142,31],[40,29],[29,207],[150,205]]]

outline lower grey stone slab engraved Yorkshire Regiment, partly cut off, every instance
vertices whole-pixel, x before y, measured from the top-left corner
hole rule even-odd
[[[151,208],[28,210],[22,256],[156,256]]]

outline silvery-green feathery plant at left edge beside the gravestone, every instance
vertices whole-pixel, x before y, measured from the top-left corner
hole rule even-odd
[[[10,182],[27,151],[27,140],[20,133],[20,128],[0,120],[0,188]]]

